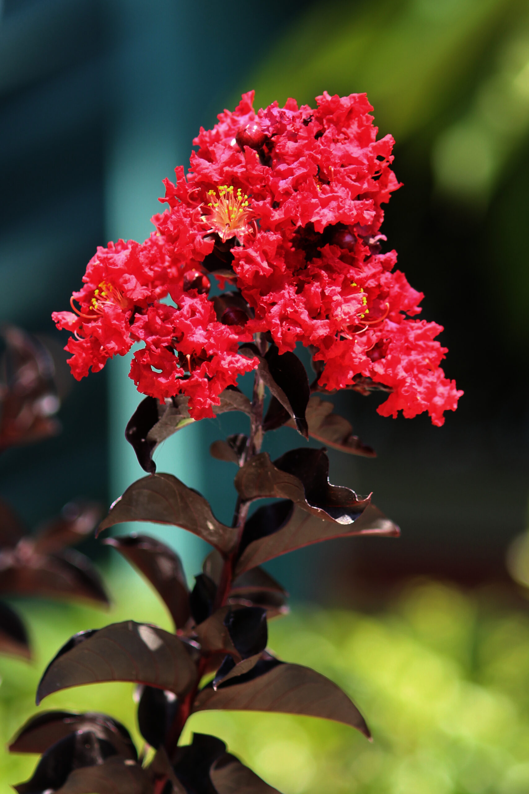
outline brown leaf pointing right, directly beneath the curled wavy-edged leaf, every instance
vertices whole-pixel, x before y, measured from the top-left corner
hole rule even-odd
[[[325,521],[292,502],[266,505],[259,507],[244,527],[235,572],[240,576],[274,557],[332,538],[352,538],[355,535],[398,538],[399,534],[398,526],[371,504],[353,524]]]

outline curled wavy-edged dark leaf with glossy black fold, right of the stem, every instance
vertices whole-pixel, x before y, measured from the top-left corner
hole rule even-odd
[[[339,524],[352,524],[370,503],[351,488],[331,485],[324,449],[292,449],[272,463],[260,453],[237,472],[235,486],[243,500],[274,496],[289,499],[303,510]]]

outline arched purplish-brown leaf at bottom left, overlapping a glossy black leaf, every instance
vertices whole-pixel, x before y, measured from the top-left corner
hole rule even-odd
[[[30,717],[11,739],[10,753],[45,753],[59,739],[79,731],[89,731],[109,742],[116,753],[136,760],[136,747],[125,725],[96,711],[79,714],[75,711],[43,711]]]

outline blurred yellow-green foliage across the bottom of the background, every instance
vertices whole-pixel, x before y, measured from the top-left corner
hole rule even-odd
[[[110,615],[82,607],[21,605],[36,661],[0,659],[2,738],[35,711],[36,681],[75,630],[125,617],[168,627],[143,582],[117,578]],[[296,607],[270,624],[270,647],[332,678],[366,715],[374,742],[338,723],[273,714],[211,712],[190,732],[217,734],[285,794],[527,794],[529,616],[435,582],[410,584],[388,611],[362,615]],[[128,684],[57,693],[40,709],[106,711],[140,744]],[[0,757],[0,792],[35,757]]]

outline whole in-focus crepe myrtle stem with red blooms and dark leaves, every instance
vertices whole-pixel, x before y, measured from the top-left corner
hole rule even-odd
[[[75,634],[48,665],[37,703],[80,684],[135,682],[145,746],[138,755],[106,715],[40,713],[11,744],[43,754],[20,794],[274,792],[220,738],[178,743],[197,711],[311,715],[370,736],[332,681],[266,649],[267,620],[286,611],[286,592],[261,565],[327,538],[395,536],[398,527],[369,496],[329,483],[325,447],[301,441],[270,461],[263,436],[289,425],[304,439],[372,456],[321,395],[381,390],[380,414],[427,411],[441,425],[462,392],[439,368],[442,328],[416,318],[422,295],[394,269],[396,253],[382,251],[381,205],[399,185],[393,138],[377,140],[366,95],[325,93],[315,109],[289,99],[258,113],[252,102],[244,94],[233,113],[201,129],[189,172],[177,168],[176,183],[165,182],[168,208],[153,218],[151,237],[99,248],[72,311],[54,314],[71,332],[78,379],[141,345],[130,376],[145,396],[125,435],[148,476],[113,503],[100,530],[158,522],[213,550],[189,591],[177,554],[158,540],[104,541],[159,592],[174,632],[129,620]],[[294,353],[300,344],[312,356],[312,384]],[[237,387],[247,372],[251,399]],[[240,434],[210,449],[238,468],[231,526],[152,460],[174,432],[226,411],[247,417]],[[250,514],[259,499],[274,501]]]

